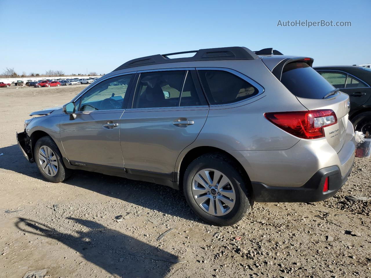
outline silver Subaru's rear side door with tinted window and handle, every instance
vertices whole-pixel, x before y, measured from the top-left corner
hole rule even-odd
[[[194,69],[138,74],[131,108],[120,120],[125,169],[168,174],[196,140],[209,111]]]

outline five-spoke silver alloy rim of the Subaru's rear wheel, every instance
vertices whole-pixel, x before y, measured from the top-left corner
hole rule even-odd
[[[196,173],[192,195],[200,208],[214,216],[228,214],[236,203],[232,182],[222,172],[210,168]]]

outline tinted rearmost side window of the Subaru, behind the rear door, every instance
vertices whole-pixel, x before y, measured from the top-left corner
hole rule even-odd
[[[246,80],[224,70],[198,70],[198,75],[210,105],[239,102],[259,93]]]

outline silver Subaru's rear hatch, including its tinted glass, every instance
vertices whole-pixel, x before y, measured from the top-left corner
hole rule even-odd
[[[280,81],[308,110],[331,109],[335,112],[337,123],[325,126],[324,132],[328,143],[338,153],[345,142],[349,96],[334,92],[334,86],[312,69],[312,62],[305,58],[286,63]]]

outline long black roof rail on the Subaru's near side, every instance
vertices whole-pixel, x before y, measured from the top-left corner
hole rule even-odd
[[[185,54],[185,53],[196,53],[192,57],[183,58],[169,58],[168,56]],[[258,56],[250,49],[241,46],[233,47],[219,47],[219,48],[207,48],[193,51],[175,52],[168,54],[156,54],[147,57],[141,57],[130,60],[116,70],[127,69],[129,67],[144,66],[149,64],[163,64],[163,63],[175,63],[175,62],[190,62],[190,61],[204,61],[204,60],[250,60],[256,59]]]

